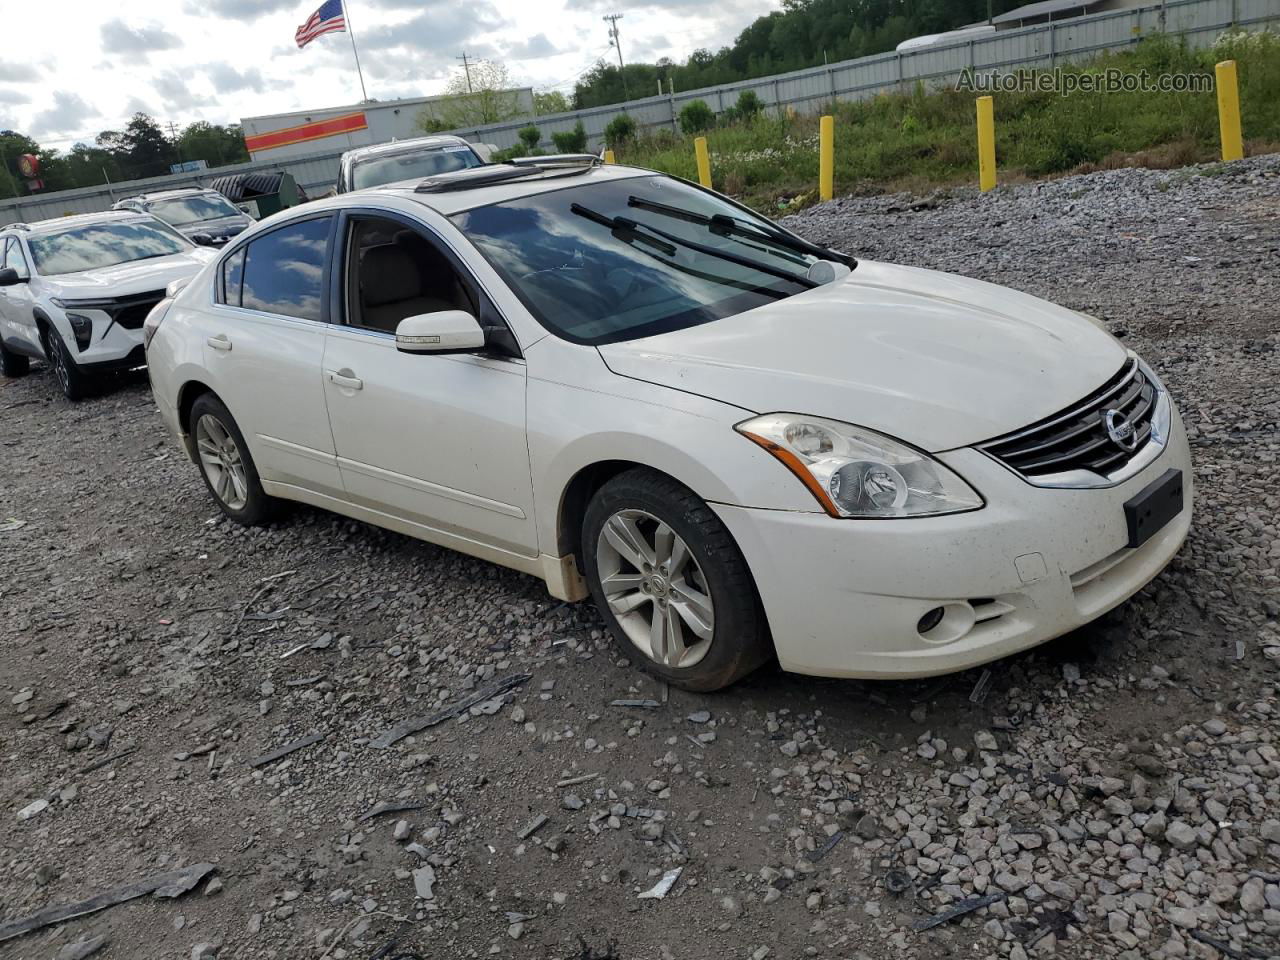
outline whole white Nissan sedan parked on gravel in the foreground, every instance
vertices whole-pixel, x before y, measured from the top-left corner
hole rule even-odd
[[[147,319],[221,511],[324,507],[595,599],[713,690],[916,677],[1151,581],[1192,516],[1155,371],[1073,310],[539,157],[317,201]]]

